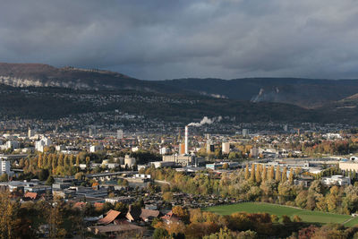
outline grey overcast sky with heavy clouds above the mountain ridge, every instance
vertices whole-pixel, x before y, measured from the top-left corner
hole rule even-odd
[[[0,62],[142,80],[358,79],[358,1],[1,0]]]

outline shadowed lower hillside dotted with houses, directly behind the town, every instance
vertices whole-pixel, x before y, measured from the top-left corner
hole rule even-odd
[[[183,96],[135,90],[71,90],[0,84],[0,118],[58,119],[68,115],[114,112],[164,121],[192,122],[203,115],[235,117],[237,122],[319,122],[314,110],[282,103]]]

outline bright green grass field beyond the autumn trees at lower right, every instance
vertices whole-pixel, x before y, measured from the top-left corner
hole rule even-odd
[[[267,212],[268,214],[275,214],[279,217],[286,215],[291,218],[294,215],[302,218],[304,222],[311,223],[345,223],[346,220],[352,218],[349,215],[334,214],[328,212],[311,211],[305,209],[296,209],[277,204],[263,203],[263,202],[243,202],[232,205],[216,206],[202,209],[204,211],[211,211],[220,215],[231,215],[234,212],[245,211],[249,213]],[[345,226],[354,226],[358,224],[358,218],[350,220]]]

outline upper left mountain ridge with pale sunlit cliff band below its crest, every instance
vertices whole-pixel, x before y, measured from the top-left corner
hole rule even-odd
[[[55,68],[48,64],[0,63],[0,83],[14,87],[51,86],[76,90],[179,91],[121,73],[73,67]]]

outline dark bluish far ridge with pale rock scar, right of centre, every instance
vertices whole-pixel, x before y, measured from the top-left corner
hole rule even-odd
[[[213,97],[280,102],[300,107],[320,107],[358,93],[357,80],[245,78],[226,81],[190,78],[159,83]]]

